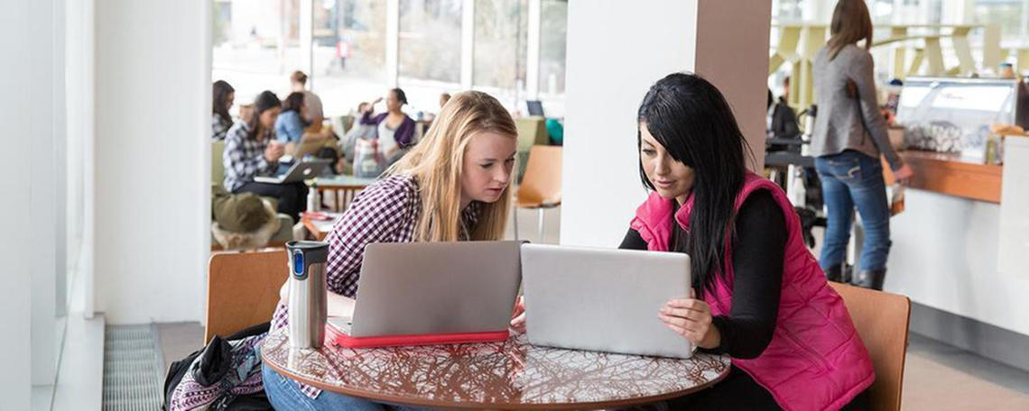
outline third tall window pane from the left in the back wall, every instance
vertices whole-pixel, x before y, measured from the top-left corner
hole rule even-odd
[[[460,90],[461,3],[400,0],[397,84],[412,112],[436,112],[441,92]]]

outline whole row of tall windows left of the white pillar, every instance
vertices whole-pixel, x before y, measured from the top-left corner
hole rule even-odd
[[[212,1],[212,79],[236,88],[237,109],[265,89],[285,98],[289,74],[306,70],[328,116],[353,112],[394,83],[406,92],[404,110],[412,115],[437,112],[440,94],[469,87],[494,95],[511,111],[536,88],[548,115],[564,112],[566,0],[476,0],[467,16],[464,0]],[[312,30],[305,44],[300,10],[307,9]],[[539,12],[535,57],[529,55],[530,9]],[[473,47],[464,49],[468,34]],[[393,46],[396,66],[389,67]],[[305,62],[308,47],[311,61]],[[538,81],[530,86],[533,70]]]

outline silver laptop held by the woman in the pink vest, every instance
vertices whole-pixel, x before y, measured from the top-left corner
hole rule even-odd
[[[660,319],[689,296],[681,253],[522,246],[529,342],[562,348],[688,358],[691,344]]]

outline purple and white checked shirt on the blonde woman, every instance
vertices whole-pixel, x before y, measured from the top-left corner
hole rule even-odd
[[[473,227],[478,221],[478,202],[472,202],[461,215],[462,227]],[[415,223],[421,215],[418,185],[407,176],[381,180],[361,191],[332,227],[326,237],[328,262],[325,281],[329,291],[345,297],[357,295],[361,276],[364,247],[372,242],[411,242],[415,240]],[[464,230],[467,237],[469,229]],[[272,330],[286,327],[289,315],[286,304],[272,315]],[[314,399],[320,389],[297,382],[300,390]]]

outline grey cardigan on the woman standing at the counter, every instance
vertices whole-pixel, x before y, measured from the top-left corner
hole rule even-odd
[[[879,112],[872,54],[849,44],[829,61],[828,47],[823,47],[815,55],[813,72],[818,114],[811,137],[811,155],[856,150],[875,158],[884,154],[893,170],[903,165],[890,145],[886,120]],[[848,96],[847,80],[857,85],[856,98]]]

